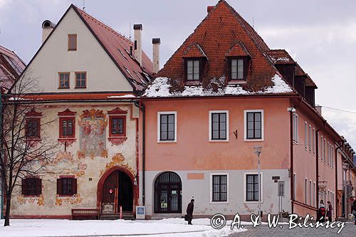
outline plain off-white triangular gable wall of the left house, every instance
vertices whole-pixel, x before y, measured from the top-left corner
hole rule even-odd
[[[72,33],[77,34],[77,51],[68,51],[68,34]],[[87,72],[86,89],[74,89],[75,71]],[[130,83],[73,9],[53,31],[28,72],[37,78],[41,92],[132,91]],[[58,89],[58,72],[70,72],[70,89]]]

